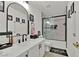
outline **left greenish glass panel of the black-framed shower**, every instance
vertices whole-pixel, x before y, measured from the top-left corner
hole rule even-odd
[[[46,39],[52,39],[53,33],[53,24],[54,22],[52,21],[52,19],[44,19],[43,20],[43,36]]]

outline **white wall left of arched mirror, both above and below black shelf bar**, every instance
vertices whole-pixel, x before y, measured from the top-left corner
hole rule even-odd
[[[4,12],[0,12],[0,32],[6,32],[6,9],[11,2],[5,2]],[[0,36],[0,44],[8,42],[6,36]]]

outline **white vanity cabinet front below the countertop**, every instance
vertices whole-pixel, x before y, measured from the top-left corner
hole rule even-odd
[[[39,44],[32,47],[29,51],[20,54],[18,57],[43,57],[44,54],[44,44]]]

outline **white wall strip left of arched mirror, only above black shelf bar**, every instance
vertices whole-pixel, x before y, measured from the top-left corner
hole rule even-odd
[[[9,5],[9,3],[11,2],[5,2],[5,8],[4,8],[4,12],[0,11],[0,32],[5,32],[6,31],[6,9],[7,6]]]

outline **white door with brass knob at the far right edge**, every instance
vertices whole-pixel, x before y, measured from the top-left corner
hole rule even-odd
[[[76,10],[76,38],[74,40],[74,43],[78,42],[79,43],[79,1],[75,2],[75,10]],[[74,46],[75,50],[75,56],[79,57],[79,48],[76,48]]]

